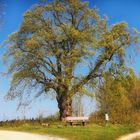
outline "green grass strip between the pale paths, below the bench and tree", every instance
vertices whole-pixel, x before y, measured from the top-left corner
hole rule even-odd
[[[88,124],[87,126],[64,126],[62,124],[52,124],[45,128],[40,125],[24,124],[18,127],[3,126],[0,129],[17,130],[39,134],[57,135],[69,140],[115,140],[120,135],[134,132],[140,127],[135,125],[108,125],[101,126]]]

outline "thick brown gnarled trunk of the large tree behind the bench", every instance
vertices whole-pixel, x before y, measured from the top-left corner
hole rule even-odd
[[[66,94],[62,94],[57,98],[58,108],[60,112],[60,120],[72,115],[72,99]]]

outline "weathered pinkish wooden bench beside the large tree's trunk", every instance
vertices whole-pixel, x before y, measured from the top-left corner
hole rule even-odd
[[[76,123],[82,123],[85,126],[86,122],[89,120],[89,117],[66,117],[65,121],[70,123],[71,126]]]

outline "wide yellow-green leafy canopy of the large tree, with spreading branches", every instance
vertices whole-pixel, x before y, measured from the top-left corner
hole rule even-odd
[[[8,97],[22,98],[36,89],[36,97],[53,90],[57,100],[71,99],[101,76],[106,64],[124,64],[126,48],[135,42],[125,22],[108,26],[107,18],[86,2],[54,0],[35,5],[5,44],[8,72],[13,74]],[[76,67],[85,64],[91,66],[87,74],[76,74]]]

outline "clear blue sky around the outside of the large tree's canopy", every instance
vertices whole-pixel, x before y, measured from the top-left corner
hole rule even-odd
[[[38,0],[4,0],[5,17],[4,23],[0,27],[0,42],[7,39],[8,35],[17,31],[21,22],[23,13],[29,9]],[[89,0],[90,6],[96,6],[101,15],[109,18],[109,24],[121,21],[128,22],[129,27],[135,27],[140,30],[140,1],[139,0]],[[2,55],[3,50],[0,50]],[[137,55],[135,63],[132,65],[137,74],[140,73],[140,56]],[[6,67],[0,62],[0,74],[6,70]],[[5,102],[3,96],[9,88],[10,78],[0,76],[0,120],[23,117],[24,110],[16,111],[17,101]],[[26,109],[27,117],[37,116],[44,112],[45,115],[53,114],[58,111],[55,100],[42,99],[32,104]]]

